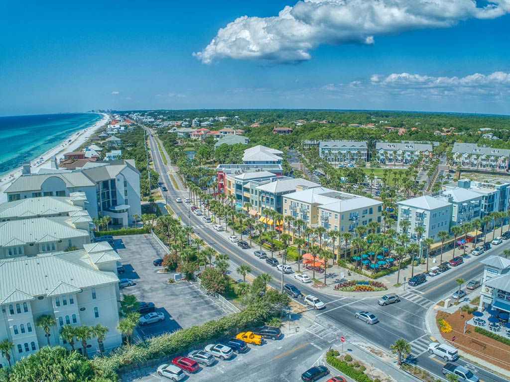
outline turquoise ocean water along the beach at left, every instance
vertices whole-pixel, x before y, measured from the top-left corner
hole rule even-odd
[[[0,117],[0,175],[20,167],[24,160],[34,162],[101,117],[93,113]]]

